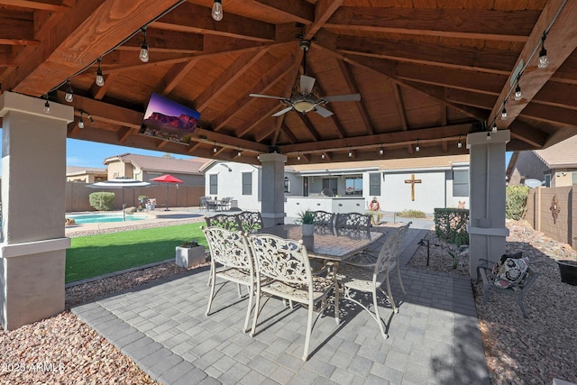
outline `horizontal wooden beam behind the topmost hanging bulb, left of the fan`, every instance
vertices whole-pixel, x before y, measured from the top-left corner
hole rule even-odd
[[[210,8],[184,3],[179,5],[178,12],[166,14],[151,25],[172,31],[215,34],[249,41],[274,41],[275,39],[274,24],[237,14],[226,14],[226,23],[219,23],[209,16]]]

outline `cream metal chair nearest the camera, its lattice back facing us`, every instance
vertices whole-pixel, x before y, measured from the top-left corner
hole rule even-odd
[[[302,241],[280,238],[276,235],[249,235],[256,270],[256,305],[252,318],[252,332],[255,335],[258,316],[261,312],[261,296],[278,297],[291,303],[307,307],[307,337],[303,361],[308,359],[310,335],[313,329],[313,312],[316,306],[318,316],[327,307],[326,298],[334,291],[334,320],[339,324],[339,290],[334,274],[326,277],[313,275],[308,260],[307,248]],[[266,304],[268,299],[262,304]]]

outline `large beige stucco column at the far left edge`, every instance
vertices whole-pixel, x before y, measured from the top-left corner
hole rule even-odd
[[[66,133],[74,109],[5,92],[0,322],[14,330],[64,310]]]

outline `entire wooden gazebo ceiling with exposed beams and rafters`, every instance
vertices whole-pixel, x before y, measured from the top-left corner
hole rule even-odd
[[[577,133],[577,1],[223,0],[221,22],[212,4],[0,0],[0,87],[66,104],[70,78],[69,138],[249,163],[267,151],[289,164],[466,153],[457,142],[493,123],[511,130],[508,151]],[[550,64],[537,69],[545,31]],[[360,102],[272,117],[278,100],[249,96],[290,96],[304,70],[298,35],[312,41],[306,74],[319,94]],[[201,113],[189,145],[138,133],[152,92]],[[94,119],[83,129],[80,110]]]

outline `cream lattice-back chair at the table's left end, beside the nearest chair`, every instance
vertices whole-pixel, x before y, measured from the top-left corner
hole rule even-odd
[[[240,298],[242,298],[240,285],[246,286],[249,292],[249,304],[246,309],[243,325],[243,333],[246,333],[249,330],[252,298],[255,288],[254,265],[251,249],[246,237],[242,232],[226,230],[220,227],[203,227],[202,231],[205,233],[211,255],[211,287],[208,307],[206,307],[206,316],[210,315],[213,300],[215,299],[216,293],[220,291],[215,292],[217,278],[235,282],[239,287]],[[216,263],[222,266],[217,267]]]

